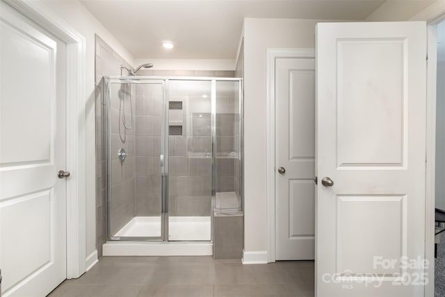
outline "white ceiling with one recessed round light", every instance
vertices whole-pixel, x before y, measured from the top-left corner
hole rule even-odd
[[[234,59],[244,17],[365,19],[385,0],[81,0],[134,58]],[[175,48],[161,46],[171,40]]]

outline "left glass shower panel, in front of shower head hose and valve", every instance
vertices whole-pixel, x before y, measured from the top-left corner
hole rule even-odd
[[[108,105],[110,239],[163,239],[163,80],[111,78]]]

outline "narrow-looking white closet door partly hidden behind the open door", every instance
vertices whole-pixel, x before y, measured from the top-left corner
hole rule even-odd
[[[275,59],[276,260],[314,260],[314,91],[314,58]]]

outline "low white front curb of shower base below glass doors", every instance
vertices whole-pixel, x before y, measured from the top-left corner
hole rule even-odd
[[[104,256],[211,256],[211,242],[106,241]]]

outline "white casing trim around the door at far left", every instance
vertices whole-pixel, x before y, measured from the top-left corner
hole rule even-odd
[[[4,1],[67,44],[67,278],[78,278],[86,271],[86,40],[40,1]]]

